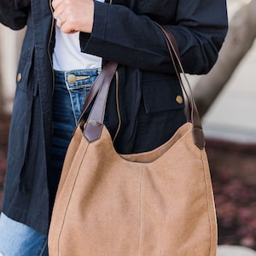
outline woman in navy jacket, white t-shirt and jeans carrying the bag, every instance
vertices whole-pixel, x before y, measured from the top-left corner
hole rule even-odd
[[[165,39],[186,73],[207,73],[227,32],[225,0],[1,0],[0,21],[26,26],[9,134],[0,255],[47,255],[61,166],[84,97],[119,63],[105,123],[119,153],[165,143],[186,121]],[[168,127],[166,129],[166,127]],[[44,253],[44,254],[43,254]]]

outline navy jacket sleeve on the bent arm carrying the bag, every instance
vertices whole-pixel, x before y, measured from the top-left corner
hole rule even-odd
[[[227,32],[226,1],[177,1],[176,17],[162,25],[176,38],[185,72],[207,73]],[[83,52],[125,66],[174,72],[160,28],[147,15],[136,15],[125,6],[95,1],[93,31],[80,33],[80,45]]]

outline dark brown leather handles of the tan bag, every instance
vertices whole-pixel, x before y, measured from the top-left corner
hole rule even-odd
[[[166,38],[166,44],[169,49],[170,55],[172,57],[172,63],[175,68],[175,72],[177,74],[177,78],[179,80],[180,85],[182,86],[189,104],[189,113],[188,113],[188,121],[193,125],[193,137],[195,145],[203,149],[205,147],[205,137],[202,131],[201,126],[201,119],[197,108],[195,106],[195,100],[192,95],[192,90],[189,84],[189,80],[187,79],[184,71],[183,66],[181,63],[181,59],[178,53],[177,44],[175,39],[172,36],[172,33],[166,29],[164,26],[160,26],[157,24],[161,31],[164,33]],[[92,102],[93,98],[96,96],[96,101],[93,104],[93,107],[90,111],[90,115],[87,119],[86,124],[84,125],[84,137],[91,143],[96,141],[101,137],[103,121],[104,121],[104,114],[106,108],[106,102],[108,98],[108,90],[113,79],[113,74],[115,73],[117,68],[117,63],[109,62],[106,67],[102,70],[102,73],[99,74],[98,78],[96,79],[95,83],[92,86],[89,96],[87,97],[84,103],[84,114],[86,108],[89,107],[90,102]],[[183,73],[183,76],[188,84],[189,87],[189,94],[183,85],[183,80],[180,77],[180,73]]]

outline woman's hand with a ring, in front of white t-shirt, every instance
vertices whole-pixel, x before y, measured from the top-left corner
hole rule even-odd
[[[52,7],[56,25],[61,32],[92,31],[94,17],[93,0],[53,0]]]

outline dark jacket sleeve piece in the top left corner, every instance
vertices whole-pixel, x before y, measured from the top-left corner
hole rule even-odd
[[[30,0],[1,0],[0,22],[11,29],[19,30],[26,26]]]

